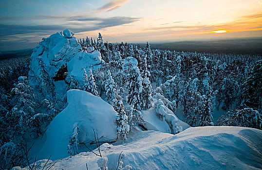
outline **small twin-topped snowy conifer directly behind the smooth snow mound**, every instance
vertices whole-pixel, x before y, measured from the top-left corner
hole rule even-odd
[[[94,96],[99,96],[98,92],[96,90],[96,85],[95,85],[95,82],[94,82],[94,76],[93,76],[91,68],[89,69],[88,74],[86,74],[86,70],[84,68],[83,80],[84,80],[84,86],[83,86],[82,90],[90,92]]]

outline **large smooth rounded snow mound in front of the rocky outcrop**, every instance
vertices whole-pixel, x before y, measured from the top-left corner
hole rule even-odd
[[[67,92],[68,106],[52,120],[48,126],[38,159],[60,159],[69,156],[68,145],[74,127],[79,128],[78,142],[89,144],[94,142],[94,132],[100,142],[110,142],[116,139],[117,113],[112,105],[101,98],[83,90]]]

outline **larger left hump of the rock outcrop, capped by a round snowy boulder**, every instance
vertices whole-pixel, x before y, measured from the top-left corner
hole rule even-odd
[[[31,55],[30,76],[39,75],[39,59],[43,60],[50,77],[54,77],[61,66],[75,57],[81,50],[71,31],[64,30],[60,33],[52,34],[48,38],[42,38],[39,45],[33,50]]]

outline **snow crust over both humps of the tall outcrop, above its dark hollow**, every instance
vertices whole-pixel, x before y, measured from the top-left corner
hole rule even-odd
[[[39,60],[43,61],[45,68],[51,78],[63,65],[68,65],[68,72],[75,76],[79,82],[82,82],[83,68],[98,68],[103,62],[99,51],[87,53],[81,50],[80,44],[73,36],[70,30],[50,35],[48,38],[42,38],[39,45],[33,50],[31,55],[31,64],[29,79],[31,85],[37,85],[36,77],[41,76]],[[60,88],[57,87],[57,88]]]

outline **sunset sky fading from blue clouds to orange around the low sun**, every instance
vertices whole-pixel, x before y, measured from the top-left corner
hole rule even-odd
[[[262,0],[1,0],[0,51],[66,28],[108,42],[262,37]]]

